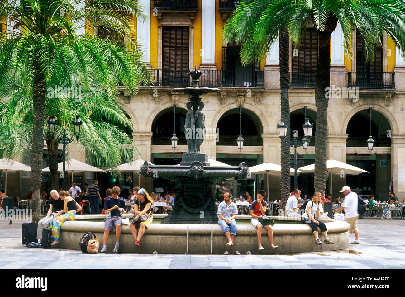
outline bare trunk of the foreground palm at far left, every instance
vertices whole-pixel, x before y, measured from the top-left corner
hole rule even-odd
[[[36,67],[38,69],[38,67]],[[35,70],[36,70],[35,69]],[[40,189],[42,184],[42,163],[44,154],[44,117],[45,117],[45,91],[46,83],[43,74],[34,72],[33,87],[33,115],[31,144],[31,191],[32,191],[32,220],[38,222],[41,219]]]

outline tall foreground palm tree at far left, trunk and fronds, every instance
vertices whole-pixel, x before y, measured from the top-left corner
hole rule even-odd
[[[33,220],[40,219],[40,186],[43,163],[47,84],[56,74],[57,87],[80,85],[92,91],[98,85],[114,99],[121,83],[130,95],[147,82],[145,65],[132,32],[131,19],[143,20],[135,0],[9,0],[0,2],[0,20],[13,23],[0,40],[0,86],[22,81],[21,93],[32,102],[30,148]],[[3,25],[7,25],[2,23]],[[78,35],[77,30],[104,28],[124,39],[129,49],[98,36]],[[63,106],[60,110],[64,112]]]

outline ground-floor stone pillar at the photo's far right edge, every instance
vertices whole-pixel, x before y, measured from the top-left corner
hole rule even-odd
[[[405,138],[399,135],[391,137],[391,176],[394,177],[394,193],[405,198]],[[401,201],[401,199],[400,199]]]

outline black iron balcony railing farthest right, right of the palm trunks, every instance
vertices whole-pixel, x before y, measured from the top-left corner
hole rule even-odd
[[[347,72],[347,87],[395,89],[394,72]]]

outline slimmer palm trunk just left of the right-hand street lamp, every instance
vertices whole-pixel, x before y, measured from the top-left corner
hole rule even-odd
[[[280,32],[279,39],[279,54],[280,54],[280,89],[281,89],[281,117],[286,123],[287,139],[290,140],[290,101],[288,99],[288,89],[290,87],[289,73],[289,44],[290,38],[288,28],[284,28]],[[288,197],[290,197],[291,178],[290,178],[290,145],[286,142],[281,142],[281,202],[282,206],[286,205]]]

